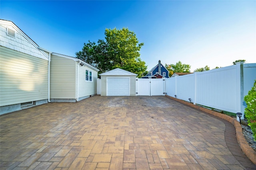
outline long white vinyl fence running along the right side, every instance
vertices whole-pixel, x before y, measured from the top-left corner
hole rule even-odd
[[[166,95],[232,113],[244,113],[244,96],[256,80],[256,63],[227,66],[166,79]],[[244,116],[244,115],[242,115]],[[241,117],[244,119],[244,117]]]

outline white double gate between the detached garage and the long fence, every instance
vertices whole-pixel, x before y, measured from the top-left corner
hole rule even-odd
[[[136,78],[136,96],[164,96],[165,78]]]

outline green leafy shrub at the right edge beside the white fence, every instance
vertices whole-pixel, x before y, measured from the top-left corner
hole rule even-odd
[[[254,141],[256,141],[256,80],[252,89],[244,96],[247,107],[244,110],[245,117],[248,119],[248,125],[252,129]]]

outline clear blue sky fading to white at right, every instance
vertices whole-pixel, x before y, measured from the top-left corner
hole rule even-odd
[[[256,1],[0,1],[0,18],[13,21],[40,47],[75,57],[106,28],[127,27],[144,43],[148,70],[190,64],[190,71],[256,63]]]

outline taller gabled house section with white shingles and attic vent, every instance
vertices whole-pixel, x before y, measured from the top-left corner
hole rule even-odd
[[[0,20],[0,114],[48,102],[49,56],[12,21]]]

